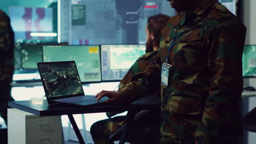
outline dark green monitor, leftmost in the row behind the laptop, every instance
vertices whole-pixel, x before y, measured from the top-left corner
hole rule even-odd
[[[37,70],[37,63],[42,62],[43,45],[58,43],[25,43],[21,44],[21,69]]]

